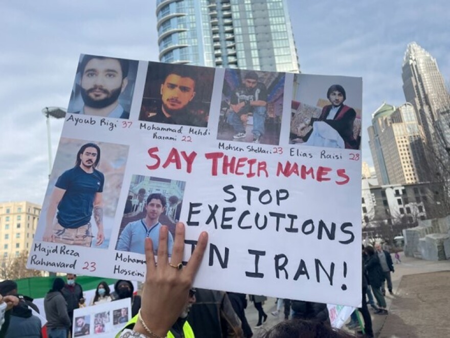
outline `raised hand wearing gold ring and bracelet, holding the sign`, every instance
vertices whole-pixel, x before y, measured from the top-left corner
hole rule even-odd
[[[186,306],[189,289],[205,253],[208,234],[202,231],[187,265],[180,269],[184,254],[185,226],[178,223],[175,242],[169,262],[167,255],[167,226],[161,227],[158,247],[158,266],[155,264],[153,245],[145,239],[147,271],[138,321],[133,327],[123,330],[119,337],[134,338],[165,337]]]

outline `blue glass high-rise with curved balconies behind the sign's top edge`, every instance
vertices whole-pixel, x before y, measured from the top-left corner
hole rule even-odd
[[[160,61],[299,72],[286,0],[157,0]]]

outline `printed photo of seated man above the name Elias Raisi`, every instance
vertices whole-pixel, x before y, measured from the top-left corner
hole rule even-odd
[[[296,74],[292,97],[289,143],[359,149],[360,78]]]

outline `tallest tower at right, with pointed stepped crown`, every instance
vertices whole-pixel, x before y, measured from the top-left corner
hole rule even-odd
[[[450,97],[436,59],[415,42],[408,45],[402,66],[403,93],[415,109],[425,137],[433,143],[436,122],[450,111]]]

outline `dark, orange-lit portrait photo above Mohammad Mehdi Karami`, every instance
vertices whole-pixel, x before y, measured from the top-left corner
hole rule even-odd
[[[139,120],[206,127],[214,68],[149,62]]]

